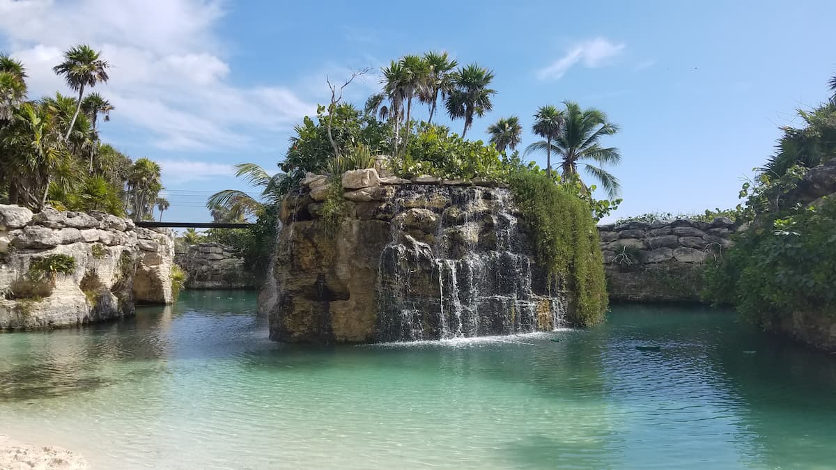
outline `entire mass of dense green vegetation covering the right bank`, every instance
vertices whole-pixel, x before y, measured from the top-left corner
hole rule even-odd
[[[743,185],[739,220],[750,227],[706,268],[706,299],[767,329],[795,312],[836,314],[836,199],[795,191],[811,167],[836,158],[836,103],[798,115],[803,126],[783,127],[775,153]]]

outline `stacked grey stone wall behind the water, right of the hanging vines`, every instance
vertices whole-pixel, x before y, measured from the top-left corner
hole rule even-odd
[[[706,258],[732,246],[734,222],[691,220],[599,226],[609,299],[698,302]]]

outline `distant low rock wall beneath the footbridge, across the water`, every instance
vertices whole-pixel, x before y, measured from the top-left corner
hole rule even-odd
[[[191,245],[175,262],[186,271],[188,289],[253,289],[255,278],[235,248],[221,243]]]

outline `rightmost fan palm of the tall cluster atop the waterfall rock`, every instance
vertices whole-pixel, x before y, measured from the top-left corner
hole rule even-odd
[[[465,128],[461,131],[462,139],[473,125],[474,115],[482,117],[493,109],[491,96],[497,91],[488,88],[492,79],[493,72],[477,64],[466,65],[452,74],[453,88],[445,105],[447,114],[452,119],[465,120]]]

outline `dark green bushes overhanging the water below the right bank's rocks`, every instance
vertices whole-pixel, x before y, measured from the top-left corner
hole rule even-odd
[[[795,208],[743,232],[706,268],[706,299],[756,324],[795,311],[836,313],[836,199]]]

